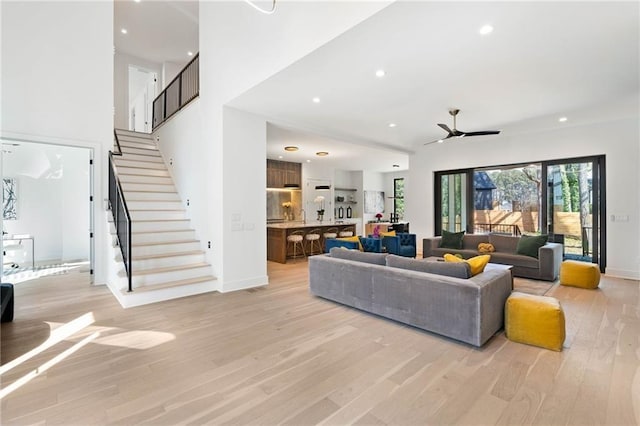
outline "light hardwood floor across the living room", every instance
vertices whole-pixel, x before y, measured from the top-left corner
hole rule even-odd
[[[0,422],[640,422],[638,281],[554,287],[568,333],[557,353],[503,332],[473,348],[310,296],[305,260],[268,268],[266,288],[128,310],[85,273],[19,284],[1,336],[2,392],[17,388]],[[86,314],[95,321],[66,337]],[[47,339],[51,347],[13,366]]]

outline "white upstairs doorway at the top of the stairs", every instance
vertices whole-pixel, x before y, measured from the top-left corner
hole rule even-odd
[[[129,65],[129,130],[151,133],[153,100],[158,75],[137,65]]]

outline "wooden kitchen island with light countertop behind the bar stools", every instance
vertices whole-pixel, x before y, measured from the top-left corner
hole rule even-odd
[[[352,231],[353,235],[356,235],[355,222],[338,221],[338,222],[281,222],[267,224],[267,260],[278,263],[287,263],[287,236],[291,235],[294,231],[307,232],[319,229],[320,230],[320,245],[324,249],[324,239],[322,234],[327,232],[329,228],[337,228],[338,232]],[[306,241],[305,241],[306,243]],[[308,250],[308,246],[305,244],[305,251]],[[293,254],[293,253],[289,253]]]

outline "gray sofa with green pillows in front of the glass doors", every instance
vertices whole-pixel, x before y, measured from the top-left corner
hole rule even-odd
[[[478,244],[491,243],[491,263],[512,265],[513,276],[555,281],[562,263],[563,247],[558,243],[546,243],[538,250],[538,258],[516,253],[520,237],[502,234],[465,234],[462,249],[441,248],[442,237],[425,238],[422,241],[423,257],[442,257],[445,253],[460,254],[463,258],[477,256]]]

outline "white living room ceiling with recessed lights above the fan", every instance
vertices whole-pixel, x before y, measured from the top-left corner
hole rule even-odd
[[[445,136],[436,123],[453,127],[452,107],[463,131],[502,130],[477,141],[575,125],[630,96],[637,112],[638,21],[637,2],[396,2],[231,105],[405,152]],[[485,24],[494,31],[482,36]],[[283,143],[270,138],[268,157]]]

